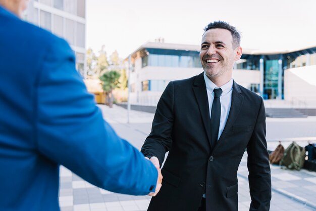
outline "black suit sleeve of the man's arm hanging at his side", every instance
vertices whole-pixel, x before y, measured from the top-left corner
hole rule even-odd
[[[269,211],[271,200],[271,172],[266,142],[266,113],[261,104],[253,134],[247,146],[251,204],[249,210]]]

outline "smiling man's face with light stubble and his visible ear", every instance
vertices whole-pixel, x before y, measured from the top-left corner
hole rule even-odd
[[[233,37],[229,30],[215,28],[209,29],[203,34],[200,60],[209,79],[231,78],[234,62],[240,57],[241,48],[234,48]]]

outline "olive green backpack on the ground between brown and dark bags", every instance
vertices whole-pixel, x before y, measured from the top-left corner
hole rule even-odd
[[[305,148],[298,146],[298,144],[293,141],[285,149],[280,165],[284,165],[291,170],[300,170],[304,165],[305,157]]]

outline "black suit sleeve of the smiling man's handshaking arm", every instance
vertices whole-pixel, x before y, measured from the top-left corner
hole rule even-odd
[[[155,156],[160,166],[165,154],[172,146],[172,128],[174,122],[174,84],[171,81],[162,94],[152,121],[151,133],[146,138],[141,152],[148,158]]]

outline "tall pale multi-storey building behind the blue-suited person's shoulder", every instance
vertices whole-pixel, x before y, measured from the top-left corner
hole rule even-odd
[[[85,73],[85,0],[30,0],[25,20],[65,38],[76,56],[76,68]]]

